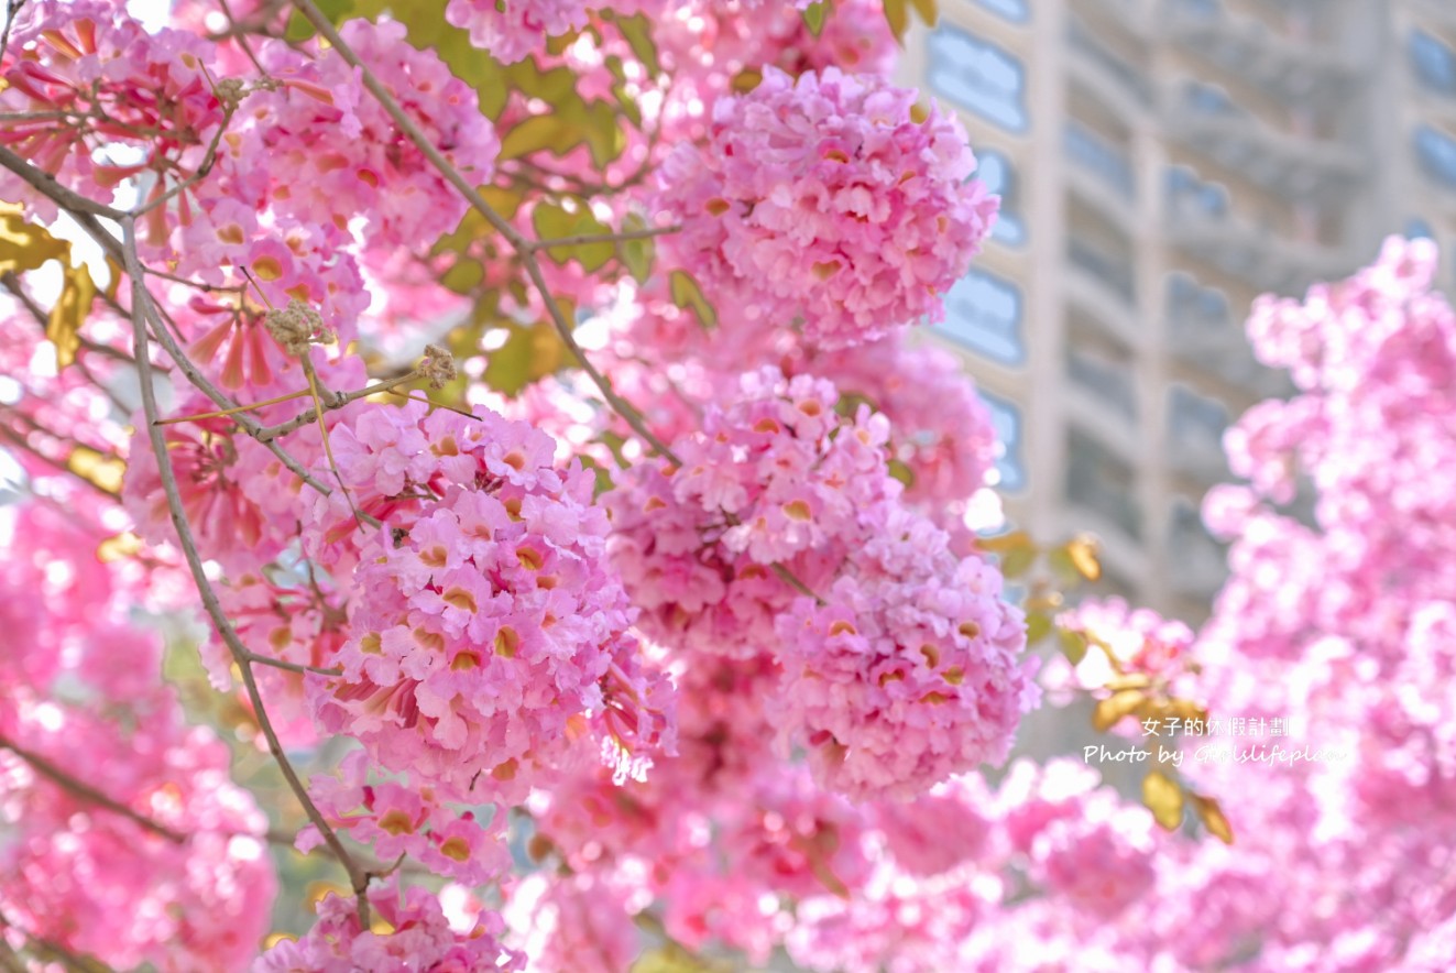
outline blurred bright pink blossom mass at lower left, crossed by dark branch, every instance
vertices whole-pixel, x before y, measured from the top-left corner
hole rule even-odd
[[[268,822],[157,682],[160,639],[128,618],[150,578],[95,554],[111,513],[90,492],[0,510],[3,935],[116,967],[236,969],[268,928]]]

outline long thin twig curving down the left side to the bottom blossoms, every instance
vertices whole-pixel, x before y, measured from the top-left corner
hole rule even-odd
[[[160,418],[160,411],[157,408],[157,393],[151,385],[151,360],[149,357],[150,338],[147,335],[146,309],[151,303],[151,296],[147,293],[146,278],[141,274],[141,261],[137,256],[137,226],[132,217],[125,216],[121,220],[122,229],[122,258],[127,274],[131,277],[131,329],[135,335],[137,344],[137,374],[141,379],[141,408],[147,418],[147,436],[151,440],[151,452],[156,453],[157,473],[162,479],[162,492],[167,498],[167,510],[172,514],[172,526],[176,530],[178,545],[182,548],[182,554],[186,558],[188,568],[192,571],[192,580],[197,584],[198,596],[202,599],[202,607],[207,610],[208,618],[211,618],[213,625],[217,628],[217,634],[223,638],[229,651],[233,654],[233,661],[237,663],[237,669],[243,677],[243,688],[248,690],[248,699],[252,704],[253,715],[258,720],[258,728],[262,730],[264,738],[268,741],[268,750],[272,753],[274,760],[278,762],[278,769],[282,771],[284,779],[293,789],[298,803],[303,805],[304,813],[314,827],[319,829],[319,835],[323,836],[325,843],[333,851],[335,858],[344,865],[344,870],[349,875],[349,884],[354,889],[355,909],[358,912],[358,921],[363,928],[370,926],[370,906],[365,893],[368,891],[368,875],[358,867],[358,862],[349,855],[348,849],[339,840],[339,836],[333,833],[329,822],[325,820],[323,814],[319,811],[313,798],[309,797],[309,788],[304,787],[303,781],[298,779],[297,771],[293,769],[293,763],[288,762],[288,756],[282,750],[282,743],[278,740],[278,733],[274,730],[272,721],[268,718],[268,709],[264,706],[262,693],[258,692],[258,680],[253,676],[250,653],[243,641],[237,637],[237,629],[233,628],[232,621],[223,610],[221,603],[217,600],[217,591],[213,590],[213,583],[207,577],[207,570],[202,567],[202,555],[198,554],[197,540],[192,536],[192,524],[188,521],[186,510],[182,504],[182,492],[178,489],[176,470],[172,469],[172,453],[167,449],[166,436],[162,427],[153,425]]]

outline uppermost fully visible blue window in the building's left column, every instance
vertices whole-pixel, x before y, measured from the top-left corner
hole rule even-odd
[[[930,35],[930,89],[1010,133],[1026,131],[1026,71],[1015,57],[942,23]]]

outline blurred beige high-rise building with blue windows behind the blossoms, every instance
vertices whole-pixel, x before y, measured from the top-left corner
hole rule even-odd
[[[1243,318],[1389,233],[1456,251],[1456,0],[941,0],[901,83],[1002,195],[936,329],[1005,440],[1008,514],[1089,529],[1105,588],[1197,621],[1224,427],[1287,390]]]

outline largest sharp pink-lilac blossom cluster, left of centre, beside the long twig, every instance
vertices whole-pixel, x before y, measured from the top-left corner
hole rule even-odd
[[[357,552],[344,677],[316,698],[323,725],[476,800],[524,795],[591,717],[623,753],[629,734],[664,738],[664,717],[635,705],[652,686],[632,671],[593,476],[556,469],[549,436],[411,402],[370,409],[333,440],[352,501],[317,498],[312,533],[352,524],[348,503],[384,527]]]

